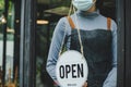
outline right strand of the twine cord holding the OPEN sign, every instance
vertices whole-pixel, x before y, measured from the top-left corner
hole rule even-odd
[[[82,39],[81,39],[81,34],[80,34],[80,27],[79,27],[78,16],[76,16],[76,12],[75,12],[74,7],[73,7],[73,11],[74,11],[74,17],[75,17],[75,22],[76,22],[76,29],[78,29],[78,35],[79,35],[79,41],[80,41],[80,46],[81,46],[81,53],[84,57],[83,45],[82,45]]]

